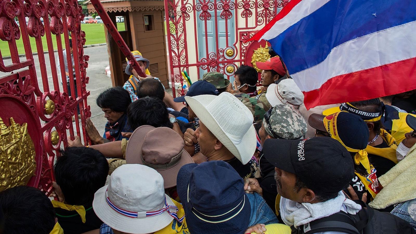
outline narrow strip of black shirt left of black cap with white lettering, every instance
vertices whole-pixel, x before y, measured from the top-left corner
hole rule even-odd
[[[261,153],[260,160],[260,171],[262,179],[259,180],[260,187],[263,189],[263,198],[265,199],[267,205],[272,208],[273,212],[276,212],[276,196],[277,196],[277,187],[275,180],[275,166],[273,166],[266,157]]]

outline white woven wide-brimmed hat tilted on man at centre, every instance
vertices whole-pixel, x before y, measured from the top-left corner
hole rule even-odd
[[[196,116],[215,137],[247,164],[256,149],[253,114],[234,95],[223,92],[215,95],[185,97]]]

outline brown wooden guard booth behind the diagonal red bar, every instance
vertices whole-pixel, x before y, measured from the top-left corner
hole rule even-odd
[[[166,33],[164,25],[163,0],[101,0],[104,9],[117,27],[124,17],[124,29],[119,33],[131,50],[139,50],[150,61],[149,72],[158,77],[168,88],[168,66],[166,53]],[[86,2],[88,12],[94,13],[94,6]],[[118,19],[117,19],[118,18]],[[120,23],[120,22],[119,22]],[[103,26],[109,54],[111,82],[113,86],[122,86],[129,79],[124,73],[127,62],[114,39]]]

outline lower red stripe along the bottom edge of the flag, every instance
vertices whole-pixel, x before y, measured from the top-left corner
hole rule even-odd
[[[415,89],[416,57],[332,77],[319,89],[303,94],[309,110],[320,105],[369,100]]]

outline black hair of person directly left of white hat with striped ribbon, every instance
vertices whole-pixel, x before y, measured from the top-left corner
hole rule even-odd
[[[61,150],[54,170],[65,202],[70,205],[90,206],[94,193],[105,185],[109,166],[107,159],[97,149],[68,147]]]

